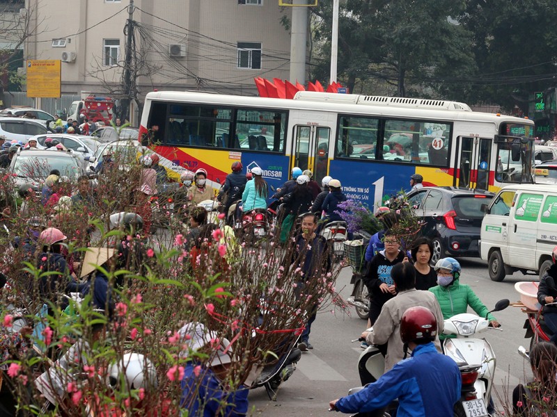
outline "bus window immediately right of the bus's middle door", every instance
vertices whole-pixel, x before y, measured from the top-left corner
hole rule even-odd
[[[369,117],[342,116],[338,123],[337,156],[375,159],[379,120]]]

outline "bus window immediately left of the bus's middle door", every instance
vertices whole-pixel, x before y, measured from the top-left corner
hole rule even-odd
[[[252,151],[283,152],[286,112],[238,109],[232,147]]]

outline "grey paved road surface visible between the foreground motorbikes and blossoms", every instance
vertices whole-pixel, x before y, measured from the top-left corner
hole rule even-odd
[[[503,282],[493,282],[487,275],[487,265],[480,259],[461,259],[463,272],[461,281],[469,284],[488,307],[497,300],[508,298],[519,300],[514,285],[517,281],[538,280],[535,275],[524,276],[520,272],[508,276]],[[343,288],[343,297],[350,294],[350,268],[341,272],[337,288]],[[503,325],[502,332],[490,330],[485,334],[497,355],[494,400],[500,407],[501,399],[508,398],[519,381],[529,377],[529,366],[517,354],[519,345],[528,346],[524,339],[524,313],[510,306],[496,313]],[[359,386],[356,370],[361,349],[357,338],[366,322],[352,316],[335,316],[320,313],[312,326],[311,343],[315,347],[304,353],[294,375],[285,382],[276,401],[270,401],[264,388],[251,391],[249,400],[253,416],[327,416],[329,400],[345,395],[348,389]]]

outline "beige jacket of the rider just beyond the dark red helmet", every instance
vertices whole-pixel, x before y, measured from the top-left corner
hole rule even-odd
[[[405,356],[404,345],[400,338],[400,319],[402,314],[410,307],[423,306],[430,309],[437,318],[437,332],[443,331],[443,313],[435,296],[429,291],[418,291],[412,288],[400,291],[396,297],[387,301],[381,309],[381,314],[373,323],[373,332],[367,337],[370,345],[383,345],[387,343],[387,354],[385,357],[385,372],[393,368],[396,363],[402,361]],[[435,347],[441,352],[439,337],[435,338]]]

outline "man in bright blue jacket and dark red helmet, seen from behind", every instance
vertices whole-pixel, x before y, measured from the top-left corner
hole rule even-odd
[[[367,413],[384,409],[398,398],[398,417],[453,416],[460,400],[460,371],[453,359],[435,349],[436,334],[437,319],[429,309],[407,309],[400,320],[400,337],[405,350],[412,350],[411,357],[358,393],[331,401],[329,407],[343,413]]]

